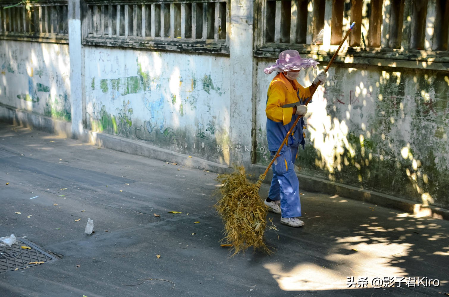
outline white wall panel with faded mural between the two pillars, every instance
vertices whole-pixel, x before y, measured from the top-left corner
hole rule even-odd
[[[228,164],[220,149],[229,143],[225,58],[86,51],[87,65],[96,65],[85,80],[89,129]]]

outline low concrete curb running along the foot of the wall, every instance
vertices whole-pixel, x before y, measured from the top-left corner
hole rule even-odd
[[[70,122],[48,118],[25,110],[13,109],[12,107],[1,104],[0,121],[15,126],[33,127],[40,131],[67,138],[75,138],[72,133]],[[233,172],[233,168],[227,165],[207,161],[194,156],[187,156],[164,148],[158,148],[137,140],[129,140],[87,129],[84,129],[83,135],[79,135],[78,139],[85,143],[114,149],[124,153],[150,157],[165,162],[176,162],[189,168],[209,170],[219,174]],[[257,180],[259,175],[262,174],[265,169],[266,167],[262,165],[249,164],[247,166],[247,173],[252,175],[251,179]],[[369,202],[396,210],[403,210],[411,214],[417,214],[418,216],[429,216],[432,218],[449,220],[449,210],[440,207],[423,205],[415,201],[409,201],[387,194],[365,190],[363,188],[352,187],[342,183],[335,183],[325,179],[301,174],[296,175],[300,180],[301,189],[308,192],[322,192],[329,195],[339,195],[352,200]],[[270,183],[272,176],[272,171],[269,170],[264,179],[264,183]],[[319,191],[317,191],[317,189],[319,189]]]

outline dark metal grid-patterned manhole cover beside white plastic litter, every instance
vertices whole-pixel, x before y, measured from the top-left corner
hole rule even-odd
[[[0,272],[12,271],[21,268],[40,265],[57,260],[56,257],[44,252],[23,238],[17,238],[18,242],[11,247],[0,247]],[[30,249],[23,249],[22,246]]]

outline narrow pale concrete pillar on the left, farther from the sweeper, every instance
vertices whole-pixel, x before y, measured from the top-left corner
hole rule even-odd
[[[72,109],[72,137],[79,138],[84,131],[84,54],[81,44],[80,0],[68,1],[69,53],[70,53],[70,102]]]

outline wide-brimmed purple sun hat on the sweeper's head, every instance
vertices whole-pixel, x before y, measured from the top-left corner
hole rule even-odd
[[[300,70],[301,68],[308,68],[313,66],[317,69],[319,62],[313,59],[304,59],[299,56],[299,52],[294,49],[287,49],[279,54],[279,59],[276,60],[276,64],[265,68],[265,74],[270,74],[273,71],[284,72],[289,70]]]

